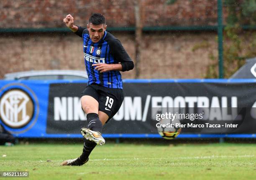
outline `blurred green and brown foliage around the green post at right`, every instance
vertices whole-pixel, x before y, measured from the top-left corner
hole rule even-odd
[[[256,56],[256,32],[243,30],[245,25],[256,25],[256,0],[224,0],[223,5],[228,11],[223,32],[224,78],[229,78],[247,58]],[[208,66],[206,78],[218,78],[218,57],[210,54],[210,59],[214,63]]]

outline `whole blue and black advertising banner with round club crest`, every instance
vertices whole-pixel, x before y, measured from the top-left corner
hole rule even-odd
[[[106,137],[158,137],[169,128],[181,134],[256,133],[254,80],[124,82],[125,98],[104,126]],[[0,81],[0,123],[18,137],[81,137],[87,121],[80,96],[86,86],[84,81]]]

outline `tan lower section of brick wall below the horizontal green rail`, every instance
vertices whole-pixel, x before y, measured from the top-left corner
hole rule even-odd
[[[134,60],[134,35],[114,35]],[[144,34],[140,78],[203,78],[212,63],[209,54],[218,54],[215,37],[215,33]],[[82,39],[73,33],[4,35],[0,49],[0,78],[15,71],[85,69]],[[122,74],[134,78],[135,71]]]

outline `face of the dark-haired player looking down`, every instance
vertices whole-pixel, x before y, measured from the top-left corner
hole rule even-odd
[[[87,24],[87,29],[89,31],[90,38],[93,43],[97,43],[104,35],[104,31],[106,30],[107,25],[93,25],[92,23]]]

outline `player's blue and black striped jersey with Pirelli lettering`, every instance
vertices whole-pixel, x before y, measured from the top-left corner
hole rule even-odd
[[[95,70],[95,63],[121,63],[122,71],[133,68],[133,61],[120,41],[105,31],[101,40],[93,43],[86,28],[78,27],[75,34],[83,38],[84,63],[88,75],[88,84],[96,83],[109,88],[123,89],[123,81],[119,71],[100,73]],[[132,67],[131,67],[132,64]]]

